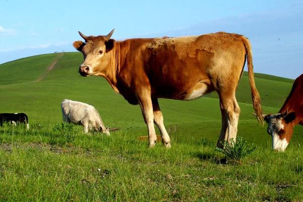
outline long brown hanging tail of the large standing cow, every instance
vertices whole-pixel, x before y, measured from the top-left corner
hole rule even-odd
[[[259,123],[264,124],[263,121],[263,110],[261,107],[261,98],[259,92],[256,88],[255,84],[255,76],[254,76],[254,66],[252,65],[252,54],[251,54],[251,46],[250,42],[246,37],[242,37],[243,43],[246,49],[246,59],[247,59],[247,68],[248,68],[248,77],[250,83],[250,90],[251,90],[251,98],[252,98],[252,106],[255,109],[257,119]]]

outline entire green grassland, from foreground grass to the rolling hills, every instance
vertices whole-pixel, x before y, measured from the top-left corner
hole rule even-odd
[[[0,113],[24,112],[30,130],[0,128],[0,200],[3,201],[301,201],[303,127],[296,126],[285,153],[271,150],[266,127],[251,116],[247,74],[237,100],[238,136],[257,150],[240,163],[215,151],[221,130],[216,93],[190,102],[160,99],[172,148],[154,149],[138,106],[129,105],[101,77],[81,77],[80,53],[47,54],[0,65]],[[48,67],[57,63],[52,71]],[[256,74],[265,113],[277,113],[293,80]],[[40,80],[40,78],[43,78]],[[110,137],[54,130],[60,103],[69,98],[93,105]],[[208,143],[201,141],[208,139]]]

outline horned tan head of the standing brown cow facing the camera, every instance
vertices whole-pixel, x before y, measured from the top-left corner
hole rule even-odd
[[[114,30],[106,36],[85,36],[79,32],[85,42],[75,41],[73,46],[82,52],[84,57],[84,62],[79,68],[81,76],[100,75],[106,71],[110,63],[109,52],[115,44],[115,40],[111,39]]]

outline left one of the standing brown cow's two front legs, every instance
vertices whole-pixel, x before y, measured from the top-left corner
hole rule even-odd
[[[154,126],[153,104],[151,103],[150,93],[140,93],[138,95],[139,105],[148,129],[149,147],[154,147],[157,142],[157,135]]]

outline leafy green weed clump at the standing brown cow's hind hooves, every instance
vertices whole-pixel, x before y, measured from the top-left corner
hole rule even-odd
[[[223,148],[216,147],[217,151],[220,151],[226,156],[226,159],[240,161],[247,155],[251,154],[256,150],[256,146],[253,144],[248,144],[243,137],[237,137],[236,141],[234,139],[222,142]]]

